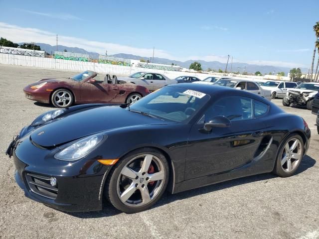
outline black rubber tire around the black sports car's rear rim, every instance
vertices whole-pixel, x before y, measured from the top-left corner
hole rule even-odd
[[[299,141],[301,142],[301,159],[299,160],[298,162],[298,165],[296,165],[295,169],[293,169],[291,172],[286,172],[284,171],[282,165],[281,165],[281,159],[282,159],[282,155],[283,155],[283,152],[284,152],[284,149],[285,149],[285,145],[291,141],[292,139],[294,138],[297,138],[299,139]],[[273,170],[273,173],[278,175],[279,177],[290,177],[292,175],[294,175],[294,173],[297,171],[298,167],[300,166],[300,163],[303,159],[303,156],[304,156],[304,140],[303,138],[298,134],[298,133],[292,133],[290,134],[288,137],[286,137],[286,139],[282,142],[281,146],[280,146],[280,149],[279,149],[279,152],[278,152],[278,155],[277,155],[277,158],[276,158],[276,162],[275,162],[275,167],[274,167],[274,170]]]

